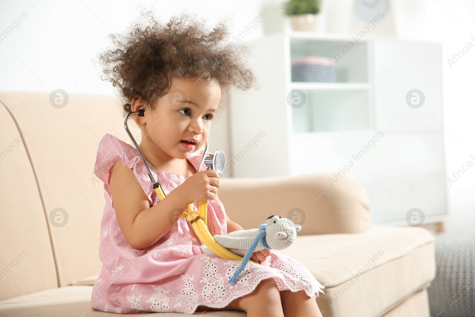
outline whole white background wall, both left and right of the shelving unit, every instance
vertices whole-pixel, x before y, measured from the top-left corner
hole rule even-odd
[[[390,0],[393,2],[394,0]],[[119,3],[119,4],[117,4]],[[243,30],[260,11],[266,19],[246,39],[283,28],[282,0],[270,1],[0,1],[0,32],[7,30],[22,12],[28,17],[0,42],[0,90],[113,94],[112,86],[98,77],[99,67],[91,59],[108,45],[107,34],[122,32],[138,15],[137,4],[153,6],[163,18],[183,8],[195,11],[210,23],[216,17],[232,15],[233,34]],[[327,29],[344,26],[351,0],[325,0],[322,17]],[[474,96],[475,47],[456,64],[447,58],[468,41],[475,44],[475,7],[469,0],[396,0],[391,5],[395,35],[401,39],[421,39],[443,43],[443,96],[446,129],[447,176],[475,156]],[[329,12],[331,14],[329,14]],[[343,23],[335,21],[342,20]],[[339,26],[341,25],[341,26]],[[213,127],[211,150],[228,152],[227,118]],[[231,155],[231,153],[229,153]],[[449,189],[449,232],[474,234],[475,166]]]

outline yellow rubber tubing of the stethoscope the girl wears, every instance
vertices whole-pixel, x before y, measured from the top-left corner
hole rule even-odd
[[[160,198],[160,200],[163,200],[166,197],[161,186],[155,188],[155,192],[157,193],[157,196]],[[183,211],[181,216],[187,219],[188,221],[191,221],[196,217],[201,216],[201,219],[198,219],[197,221],[194,221],[191,224],[191,227],[195,231],[198,239],[201,240],[209,248],[209,250],[213,251],[213,253],[221,259],[242,261],[243,258],[241,256],[229,251],[228,249],[221,246],[216,240],[214,240],[205,223],[207,212],[208,201],[203,201],[199,202],[198,212],[194,211],[194,206],[191,203],[188,205],[188,212]],[[249,262],[259,264],[258,262],[253,260],[249,260]]]

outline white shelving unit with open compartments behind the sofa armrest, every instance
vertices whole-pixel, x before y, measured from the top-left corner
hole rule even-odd
[[[352,161],[346,173],[365,187],[373,222],[406,224],[414,207],[426,222],[444,219],[440,43],[366,35],[340,53],[335,82],[292,82],[292,60],[334,58],[349,42],[355,43],[350,35],[305,32],[247,42],[254,46],[249,63],[261,87],[231,94],[233,176],[338,173]],[[289,106],[293,89],[304,92],[305,106]],[[412,89],[423,92],[423,106],[406,103]]]

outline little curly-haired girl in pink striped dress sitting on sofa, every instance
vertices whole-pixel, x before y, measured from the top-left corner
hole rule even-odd
[[[208,200],[211,235],[243,230],[218,198],[216,171],[197,151],[229,87],[247,90],[255,75],[242,61],[247,47],[229,43],[218,23],[211,31],[188,14],[163,25],[152,11],[144,25],[112,35],[116,47],[101,55],[106,80],[119,87],[123,114],[140,126],[140,149],[167,198],[160,201],[146,166],[130,144],[105,134],[94,173],[104,182],[99,255],[103,268],[92,292],[94,310],[114,313],[242,310],[248,317],[317,317],[323,286],[302,264],[278,252],[254,252],[228,284],[240,261],[203,254],[190,222],[181,217]],[[249,114],[252,115],[252,114]],[[207,153],[210,154],[210,153]],[[246,211],[243,211],[246,212]],[[265,219],[263,220],[263,222]]]

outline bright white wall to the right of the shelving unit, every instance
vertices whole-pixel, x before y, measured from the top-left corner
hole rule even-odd
[[[418,3],[416,7],[412,4]],[[468,160],[475,162],[474,86],[475,79],[475,4],[469,0],[397,1],[401,12],[400,38],[435,40],[443,45],[443,99],[447,177]],[[470,38],[474,36],[474,39]],[[470,41],[474,45],[451,66],[447,62]],[[467,49],[465,49],[467,50]],[[474,235],[475,167],[469,168],[456,183],[448,185],[450,218],[447,231]]]

